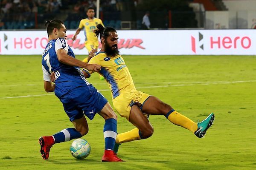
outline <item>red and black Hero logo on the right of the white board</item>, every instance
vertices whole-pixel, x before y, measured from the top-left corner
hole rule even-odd
[[[201,42],[203,40],[204,36],[200,32],[198,33],[199,36],[199,45],[202,50],[204,50],[204,43]],[[204,40],[206,41],[206,40]],[[250,37],[244,36],[244,37],[209,37],[209,40],[207,40],[210,44],[210,49],[236,49],[236,48],[243,48],[248,49],[252,45],[252,40]],[[191,50],[196,54],[196,39],[195,37],[191,36]]]

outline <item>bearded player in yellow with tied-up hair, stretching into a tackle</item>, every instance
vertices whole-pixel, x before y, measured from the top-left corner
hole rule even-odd
[[[119,55],[116,30],[111,27],[103,27],[100,24],[97,25],[97,28],[95,33],[100,36],[102,49],[88,63],[101,65],[102,69],[99,73],[105,77],[111,88],[114,108],[120,116],[125,117],[136,126],[136,128],[116,136],[115,153],[117,153],[119,144],[146,139],[153,134],[153,127],[144,113],[163,115],[173,124],[190,130],[197,137],[204,137],[207,129],[213,123],[214,114],[211,113],[202,122],[195,123],[157,97],[137,91],[125,61]],[[83,72],[85,77],[90,77],[92,74],[86,69]]]

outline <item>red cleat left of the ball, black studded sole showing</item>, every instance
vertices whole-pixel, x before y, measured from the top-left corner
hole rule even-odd
[[[39,144],[41,145],[40,152],[43,159],[48,159],[50,149],[54,144],[54,139],[52,138],[52,136],[42,136],[41,138],[39,138]]]

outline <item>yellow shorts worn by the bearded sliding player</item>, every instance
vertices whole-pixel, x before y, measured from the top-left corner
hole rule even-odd
[[[129,121],[131,106],[140,103],[142,106],[150,95],[141,91],[132,91],[122,93],[113,99],[113,106],[120,116],[125,117]]]

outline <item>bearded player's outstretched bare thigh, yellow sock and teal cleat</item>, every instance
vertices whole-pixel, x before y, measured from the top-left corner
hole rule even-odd
[[[160,114],[164,115],[166,119],[175,125],[182,126],[198,137],[203,137],[206,130],[212,125],[214,120],[214,114],[211,113],[204,121],[201,123],[195,123],[191,119],[183,116],[182,114],[175,111],[170,105],[162,102],[160,99],[154,96],[150,96],[144,103],[142,111],[148,114]]]

